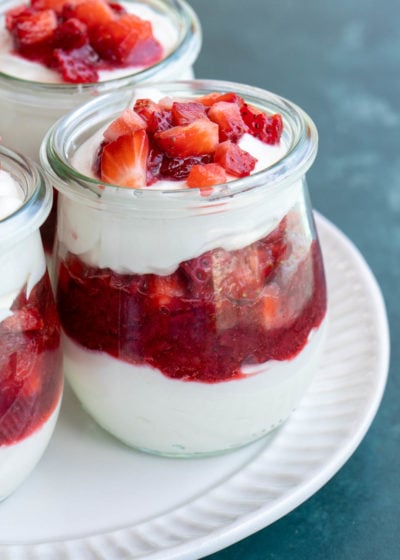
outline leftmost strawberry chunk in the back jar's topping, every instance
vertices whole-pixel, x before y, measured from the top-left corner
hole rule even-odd
[[[24,17],[17,21],[13,30],[17,48],[23,50],[26,56],[32,54],[32,49],[51,42],[56,27],[57,16],[53,10],[43,10]],[[37,51],[33,52],[35,56]]]

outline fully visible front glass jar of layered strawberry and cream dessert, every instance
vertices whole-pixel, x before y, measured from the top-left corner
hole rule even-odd
[[[192,456],[290,415],[326,329],[316,150],[297,106],[216,81],[111,94],[49,131],[65,372],[101,426]]]

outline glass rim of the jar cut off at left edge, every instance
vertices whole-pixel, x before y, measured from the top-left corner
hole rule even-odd
[[[53,193],[39,167],[20,153],[0,146],[0,164],[24,192],[21,206],[0,219],[0,246],[7,248],[39,229],[50,212]]]

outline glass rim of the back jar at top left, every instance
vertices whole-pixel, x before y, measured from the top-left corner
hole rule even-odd
[[[135,0],[124,1],[134,2]],[[9,3],[12,5],[18,2],[11,0]],[[107,93],[116,88],[148,82],[156,79],[158,75],[164,75],[167,71],[169,72],[170,67],[175,67],[178,64],[183,67],[191,66],[200,51],[202,41],[201,25],[195,11],[186,0],[147,0],[147,3],[150,6],[153,4],[154,6],[164,7],[166,13],[167,10],[170,10],[176,16],[177,22],[181,27],[180,36],[175,48],[156,64],[117,78],[83,84],[36,82],[0,71],[0,83],[6,83],[8,86],[18,90],[25,90],[29,87],[28,93],[41,95],[62,96],[64,94],[70,96],[85,93],[98,94]],[[5,9],[8,9],[7,6],[3,7],[0,16],[4,13]]]

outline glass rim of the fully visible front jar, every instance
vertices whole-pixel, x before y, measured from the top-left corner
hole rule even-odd
[[[265,110],[267,110],[267,107],[269,110],[273,108],[274,112],[279,112],[283,117],[288,149],[284,156],[273,165],[247,177],[215,185],[212,194],[208,196],[200,196],[201,189],[196,188],[139,188],[131,189],[133,199],[159,200],[161,197],[165,197],[173,199],[175,202],[184,200],[185,202],[192,201],[196,204],[207,205],[210,201],[233,197],[249,190],[263,188],[269,191],[281,187],[282,184],[292,184],[305,175],[315,159],[318,148],[318,133],[315,124],[300,107],[277,94],[254,86],[217,80],[154,82],[150,87],[160,90],[165,95],[170,94],[175,97],[191,95],[197,97],[210,92],[235,92],[252,105],[264,107]],[[135,95],[140,95],[140,90],[145,91],[145,88],[148,91],[149,85],[143,84],[135,87]],[[85,116],[92,115],[96,119],[104,107],[109,109],[113,104],[119,105],[119,111],[122,112],[131,100],[132,94],[131,88],[124,88],[100,96],[65,115],[50,128],[43,140],[40,157],[42,165],[51,175],[55,183],[54,186],[58,190],[64,194],[70,194],[70,196],[81,196],[83,199],[93,200],[93,193],[100,198],[105,187],[119,189],[115,185],[87,177],[71,166],[67,150],[71,145],[76,149],[77,141],[76,137],[74,137],[74,140],[71,137],[68,138],[68,133],[74,127],[79,127]],[[108,120],[115,118],[115,116],[109,114]],[[96,127],[97,130],[99,128],[100,126]],[[68,181],[68,184],[66,181]],[[98,200],[94,200],[94,203],[97,202]],[[126,204],[126,199],[121,202],[120,199],[111,201],[110,198],[107,198],[107,204],[123,206]]]

